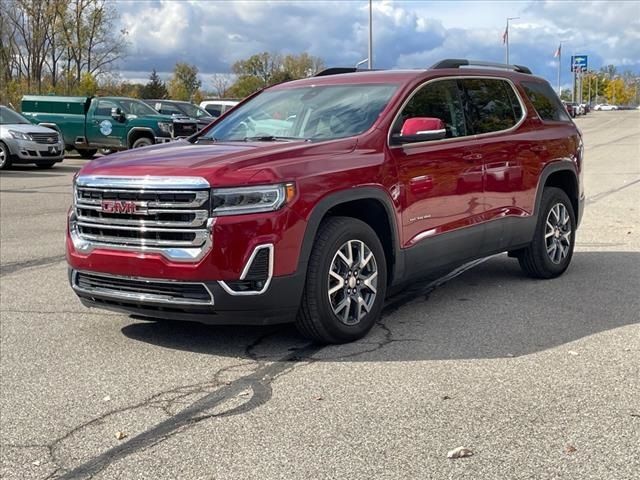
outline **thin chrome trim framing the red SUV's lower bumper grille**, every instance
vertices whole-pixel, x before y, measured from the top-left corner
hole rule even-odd
[[[104,277],[104,278],[113,278],[118,280],[132,280],[138,282],[146,282],[146,283],[165,283],[165,284],[173,284],[173,285],[201,285],[209,294],[210,301],[202,302],[196,300],[180,300],[175,297],[171,297],[170,295],[154,295],[149,293],[131,293],[131,292],[117,292],[110,291],[108,289],[102,288],[91,288],[86,289],[82,288],[77,284],[78,274],[83,273],[85,275],[93,275],[96,277]],[[155,304],[166,304],[166,305],[206,305],[212,306],[214,305],[214,297],[213,293],[207,287],[207,285],[203,282],[181,282],[178,280],[166,280],[166,279],[157,279],[157,278],[146,278],[146,277],[128,277],[121,275],[111,275],[107,273],[101,272],[89,272],[84,270],[73,270],[71,273],[71,287],[74,291],[84,293],[87,295],[99,295],[101,297],[113,298],[116,300],[129,300],[136,301],[141,303],[155,303]]]

